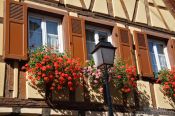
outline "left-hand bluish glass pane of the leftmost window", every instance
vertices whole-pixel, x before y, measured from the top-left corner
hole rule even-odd
[[[29,48],[35,49],[42,45],[41,19],[29,18]]]

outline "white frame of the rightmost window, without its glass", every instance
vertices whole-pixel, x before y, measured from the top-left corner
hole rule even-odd
[[[156,60],[156,64],[157,64],[157,70],[158,71],[161,70],[161,65],[160,65],[160,60],[159,60],[159,57],[158,57],[159,54],[158,54],[158,49],[156,47],[156,44],[163,45],[163,53],[165,55],[165,60],[166,60],[166,63],[167,63],[167,68],[168,69],[171,69],[170,61],[169,61],[169,57],[168,57],[168,50],[167,50],[166,42],[161,41],[161,40],[156,40],[156,39],[148,38],[148,45],[149,45],[149,42],[152,42],[153,43],[153,51],[154,51],[154,54],[155,54],[155,60]],[[148,46],[148,48],[149,48],[149,46]],[[149,51],[149,55],[150,55],[150,51]],[[151,55],[150,55],[150,59],[151,59]],[[151,61],[151,66],[152,66],[152,61]],[[154,73],[156,73],[156,72],[154,72]]]

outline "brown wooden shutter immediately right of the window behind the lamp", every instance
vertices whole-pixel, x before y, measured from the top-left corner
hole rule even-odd
[[[118,28],[118,55],[128,65],[134,65],[132,39],[129,29]]]

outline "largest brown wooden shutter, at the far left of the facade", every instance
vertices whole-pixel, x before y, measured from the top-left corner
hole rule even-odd
[[[4,57],[27,59],[27,7],[25,4],[6,0]]]

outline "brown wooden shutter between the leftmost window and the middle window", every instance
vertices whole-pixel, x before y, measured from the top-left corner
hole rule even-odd
[[[85,23],[81,18],[70,17],[69,19],[72,56],[80,58],[81,63],[84,64],[86,60]]]

